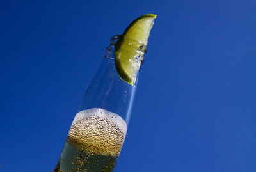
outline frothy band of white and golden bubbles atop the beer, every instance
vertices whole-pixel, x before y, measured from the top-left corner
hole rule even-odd
[[[104,109],[88,109],[77,113],[67,141],[90,155],[120,154],[127,124],[121,116]]]

